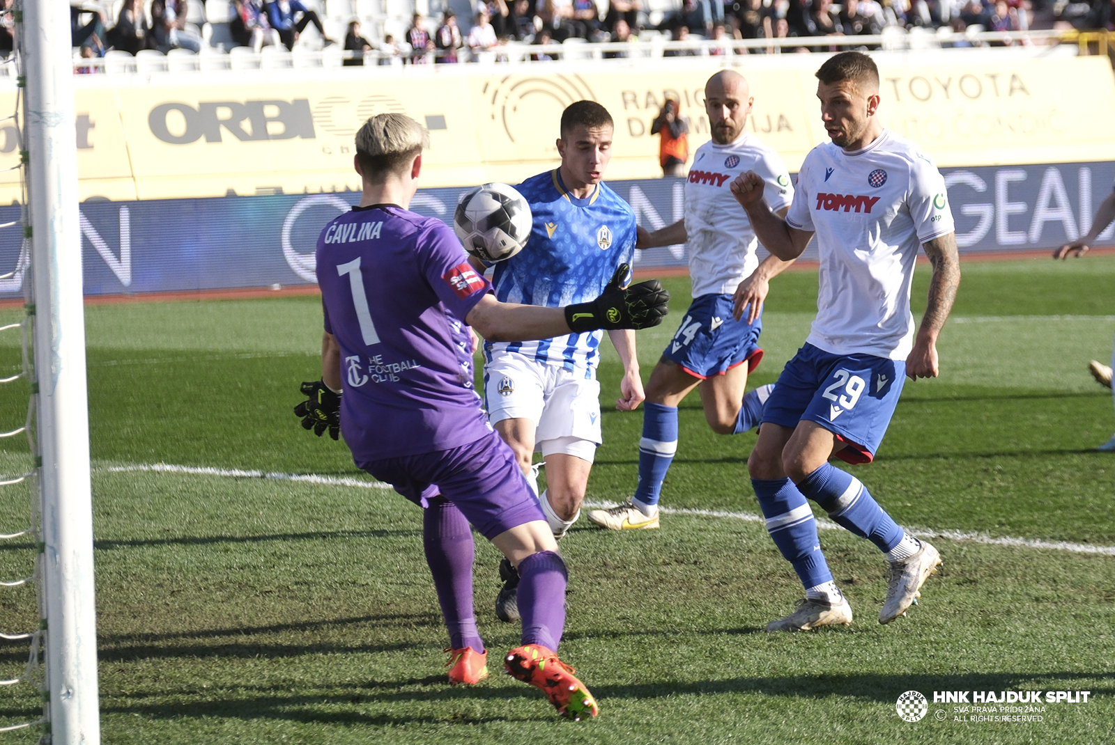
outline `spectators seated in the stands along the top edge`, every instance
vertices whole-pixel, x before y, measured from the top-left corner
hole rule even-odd
[[[323,0],[328,3],[329,0]],[[132,55],[144,49],[197,52],[206,46],[197,26],[186,22],[187,0],[124,0],[116,18],[93,6],[71,7],[71,32],[83,58],[104,57],[109,49]],[[401,39],[387,33],[365,36],[360,21],[348,22],[345,65],[362,65],[366,52],[378,52],[380,65],[455,63],[506,59],[510,43],[532,45],[531,59],[562,56],[568,40],[629,42],[640,36],[672,41],[712,43],[671,48],[666,56],[724,55],[776,51],[750,48],[734,40],[876,36],[888,28],[953,32],[968,30],[1025,31],[1064,26],[1115,30],[1115,0],[675,0],[672,9],[649,12],[644,0],[474,0],[467,22],[453,10],[433,23],[415,13]],[[317,6],[317,3],[313,3]],[[10,51],[14,33],[14,0],[0,0],[0,53]],[[318,12],[301,0],[230,0],[226,46],[293,49],[300,35],[313,26],[321,43],[334,43]],[[368,37],[372,38],[369,39]],[[964,46],[958,37],[953,46]],[[1007,42],[999,42],[1007,43]],[[869,45],[865,45],[869,46]],[[780,47],[780,45],[779,45]],[[793,46],[796,51],[827,50],[824,43]],[[780,50],[780,49],[779,49]],[[612,48],[604,58],[627,57]],[[89,68],[90,70],[93,68]]]

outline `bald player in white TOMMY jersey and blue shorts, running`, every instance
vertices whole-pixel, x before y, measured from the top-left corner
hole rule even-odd
[[[685,217],[648,233],[637,248],[685,243],[694,302],[647,383],[639,486],[624,503],[589,512],[611,530],[659,527],[662,481],[678,448],[678,405],[699,389],[705,419],[719,434],[755,428],[773,386],[747,395],[747,375],[763,359],[760,314],[770,278],[789,266],[768,256],[762,264],[747,213],[731,196],[731,183],[754,170],[766,182],[766,202],[779,216],[794,197],[778,155],[746,130],[754,98],[747,80],[721,70],[705,84],[705,110],[712,139],[697,149],[685,187]],[[744,317],[740,317],[744,313]]]

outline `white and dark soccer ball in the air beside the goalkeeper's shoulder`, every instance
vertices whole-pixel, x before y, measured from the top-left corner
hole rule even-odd
[[[531,237],[531,206],[506,184],[484,184],[457,202],[453,231],[465,251],[484,262],[511,258]]]

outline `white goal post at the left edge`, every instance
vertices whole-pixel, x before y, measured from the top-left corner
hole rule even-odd
[[[97,745],[97,625],[78,217],[70,11],[23,0],[17,39],[25,86],[37,437],[41,465],[40,609],[43,742]]]

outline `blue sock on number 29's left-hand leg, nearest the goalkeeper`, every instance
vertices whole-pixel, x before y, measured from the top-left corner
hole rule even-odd
[[[831,582],[825,555],[817,539],[817,522],[809,503],[789,479],[752,479],[759,499],[767,532],[783,557],[794,565],[794,571],[805,589]]]

